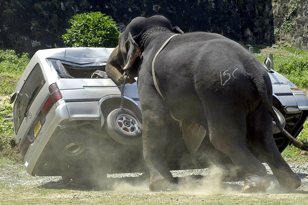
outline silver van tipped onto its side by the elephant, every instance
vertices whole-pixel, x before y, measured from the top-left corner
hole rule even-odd
[[[126,84],[122,90],[122,85],[108,78],[105,65],[112,51],[44,49],[30,60],[11,97],[16,141],[30,175],[60,175],[64,180],[98,185],[107,173],[146,170],[137,85]],[[307,97],[272,65],[267,58],[264,67],[273,85],[275,112],[297,137],[308,115]],[[275,123],[273,132],[282,152],[290,140]],[[194,167],[192,162],[201,160],[201,151],[208,146],[204,140],[200,151],[190,155],[180,140],[168,160],[170,169],[205,166]]]

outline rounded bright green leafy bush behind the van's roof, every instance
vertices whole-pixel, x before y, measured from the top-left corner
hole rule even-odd
[[[72,26],[62,36],[70,47],[115,47],[120,31],[110,16],[101,12],[77,14],[68,21]]]

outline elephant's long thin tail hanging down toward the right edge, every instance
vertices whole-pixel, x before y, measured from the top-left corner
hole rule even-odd
[[[253,61],[253,64],[255,64],[255,61]],[[246,71],[247,72],[247,71]],[[268,97],[267,87],[264,81],[263,76],[259,72],[257,65],[255,64],[255,69],[253,70],[253,73],[250,71],[247,72],[247,74],[250,76],[251,82],[253,85],[257,88],[258,93],[261,97],[261,101],[265,107],[265,109],[270,113],[270,115],[273,117],[273,120],[276,122],[277,127],[279,130],[287,137],[289,138],[295,147],[300,148],[302,150],[308,151],[308,142],[306,140],[299,141],[295,139],[292,135],[290,135],[289,132],[287,132],[281,125],[280,120],[278,119],[278,116],[274,112],[272,103],[270,103],[270,99]]]

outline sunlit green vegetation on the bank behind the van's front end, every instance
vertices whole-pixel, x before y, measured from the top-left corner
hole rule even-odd
[[[308,88],[308,51],[290,47],[277,48],[277,50],[279,49],[289,51],[290,54],[274,53],[274,70],[284,75],[298,87]],[[255,56],[261,62],[264,62],[264,59],[267,57],[265,53],[257,53]]]

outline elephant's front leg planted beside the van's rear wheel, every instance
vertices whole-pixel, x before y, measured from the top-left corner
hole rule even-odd
[[[174,189],[174,180],[165,156],[166,138],[170,120],[163,112],[150,110],[142,113],[144,160],[150,172],[150,191]]]

